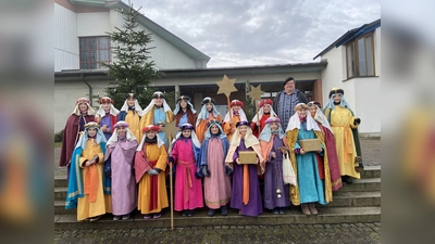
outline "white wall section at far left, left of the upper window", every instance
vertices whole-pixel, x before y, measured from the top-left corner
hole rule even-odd
[[[78,69],[76,13],[54,3],[54,72]]]

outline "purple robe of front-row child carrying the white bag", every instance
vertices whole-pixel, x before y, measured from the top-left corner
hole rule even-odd
[[[275,207],[287,207],[290,205],[289,184],[283,181],[283,153],[278,147],[285,146],[279,137],[273,137],[272,152],[276,153],[276,158],[268,160],[264,172],[264,207],[273,209]],[[281,190],[281,197],[277,197],[276,190]]]

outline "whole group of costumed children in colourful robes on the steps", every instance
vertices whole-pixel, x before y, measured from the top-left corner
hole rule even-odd
[[[238,100],[231,102],[224,119],[211,98],[203,99],[199,114],[186,95],[172,112],[162,92],[154,92],[145,110],[133,93],[121,111],[110,98],[100,103],[94,116],[89,101],[77,100],[64,130],[60,166],[69,168],[66,208],[76,207],[79,221],[95,221],[105,213],[113,220],[128,219],[136,208],[145,219],[160,218],[169,207],[169,163],[175,171],[174,209],[182,216],[194,216],[204,203],[209,216],[217,210],[226,216],[228,204],[245,216],[261,215],[263,207],[285,214],[290,204],[316,215],[315,203],[331,202],[341,177],[360,178],[352,129],[361,120],[341,89],[330,93],[324,113],[316,102],[297,104],[287,128],[270,99],[260,101],[251,123]],[[173,120],[179,132],[169,142],[162,127]],[[306,152],[299,144],[303,139],[319,139],[321,150]],[[246,151],[254,152],[254,162],[241,164]],[[295,184],[283,181],[287,157]]]

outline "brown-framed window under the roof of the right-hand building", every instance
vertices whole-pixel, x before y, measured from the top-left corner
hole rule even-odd
[[[346,46],[347,78],[374,76],[373,33]]]

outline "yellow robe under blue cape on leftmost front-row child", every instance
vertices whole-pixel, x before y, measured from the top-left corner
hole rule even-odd
[[[89,203],[89,196],[85,194],[84,197],[78,197],[77,202],[77,220],[85,220],[87,218],[97,217],[100,215],[104,215],[105,213],[112,213],[112,200],[110,195],[104,195],[102,189],[102,171],[104,165],[104,156],[101,151],[101,146],[97,143],[92,143],[89,139],[86,142],[85,150],[82,151],[80,156],[80,174],[83,183],[85,185],[86,181],[86,172],[89,167],[83,165],[85,160],[90,160],[95,155],[98,155],[99,162],[89,167],[97,167],[98,171],[98,191],[97,191],[97,201],[95,203]]]

